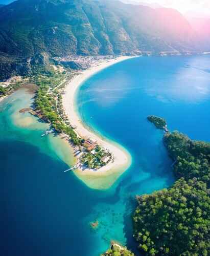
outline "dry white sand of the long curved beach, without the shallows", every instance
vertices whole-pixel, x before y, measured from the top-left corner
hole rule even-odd
[[[107,148],[113,155],[114,155],[114,162],[109,162],[107,165],[101,167],[96,172],[91,169],[85,169],[85,170],[77,170],[77,174],[79,172],[79,176],[106,176],[110,175],[110,172],[116,172],[116,170],[120,173],[125,172],[125,170],[130,166],[131,163],[131,157],[128,152],[124,148],[122,148],[120,145],[110,142],[107,139],[101,138],[99,135],[97,135],[95,132],[90,131],[87,126],[85,126],[84,123],[80,120],[80,117],[78,116],[78,113],[76,111],[75,107],[75,95],[78,90],[78,88],[81,86],[81,84],[90,76],[93,74],[101,71],[102,69],[105,69],[111,65],[114,65],[115,63],[118,63],[120,61],[129,59],[132,57],[122,56],[111,60],[104,60],[101,62],[98,66],[91,67],[90,69],[82,71],[80,74],[78,74],[76,77],[74,77],[71,81],[68,82],[66,89],[65,89],[65,95],[63,95],[63,107],[65,110],[66,115],[69,118],[69,121],[71,124],[74,124],[77,126],[75,131],[77,134],[82,138],[91,138],[92,140],[96,140],[99,145],[103,146],[104,148]],[[111,182],[112,183],[112,182]],[[96,187],[95,187],[96,188]]]

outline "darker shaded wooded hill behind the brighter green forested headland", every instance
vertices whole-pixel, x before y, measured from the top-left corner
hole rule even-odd
[[[181,133],[174,132],[164,136],[164,143],[176,164],[176,176],[186,180],[196,177],[209,185],[210,143],[193,141]]]

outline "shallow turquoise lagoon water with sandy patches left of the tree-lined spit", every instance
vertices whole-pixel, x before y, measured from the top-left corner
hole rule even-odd
[[[49,157],[57,156],[67,165],[74,164],[73,150],[69,146],[68,141],[64,140],[61,135],[49,134],[49,136],[41,137],[40,135],[47,129],[49,124],[40,122],[37,117],[32,116],[28,112],[20,113],[23,108],[28,108],[33,102],[34,92],[26,87],[21,87],[12,94],[4,97],[5,101],[0,100],[1,106],[10,104],[10,113],[8,122],[18,131],[18,141],[29,143],[39,148],[39,151]],[[17,99],[21,99],[17,100]],[[12,103],[12,104],[11,104]],[[7,111],[3,108],[3,112]],[[15,136],[15,135],[14,135]],[[53,152],[53,154],[52,154]]]

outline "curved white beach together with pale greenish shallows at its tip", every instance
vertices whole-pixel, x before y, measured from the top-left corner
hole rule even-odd
[[[74,174],[90,188],[109,188],[116,179],[118,179],[129,168],[131,165],[131,156],[125,148],[113,141],[102,138],[95,131],[91,131],[87,125],[81,121],[75,105],[76,94],[82,83],[90,76],[118,62],[133,57],[135,56],[121,56],[111,60],[104,60],[99,65],[95,65],[87,70],[81,71],[80,74],[67,83],[65,94],[62,97],[65,113],[71,124],[76,126],[75,132],[82,138],[91,138],[97,141],[99,145],[107,148],[114,156],[113,163],[109,162],[97,171],[88,168],[85,170],[74,170]]]

